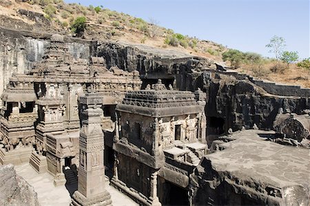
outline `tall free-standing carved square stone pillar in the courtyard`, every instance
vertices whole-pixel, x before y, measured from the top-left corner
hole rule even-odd
[[[105,168],[103,165],[103,132],[101,110],[103,99],[87,88],[81,96],[80,166],[78,190],[74,192],[72,205],[111,205],[109,192],[105,189]]]

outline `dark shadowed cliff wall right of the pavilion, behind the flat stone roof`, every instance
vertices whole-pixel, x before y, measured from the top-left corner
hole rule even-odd
[[[215,74],[205,75],[203,87],[207,92],[206,114],[225,120],[223,132],[229,128],[249,129],[256,124],[259,128],[271,130],[280,108],[302,114],[310,107],[309,96],[278,96],[269,94],[262,87],[248,79]],[[212,125],[209,125],[212,126]]]

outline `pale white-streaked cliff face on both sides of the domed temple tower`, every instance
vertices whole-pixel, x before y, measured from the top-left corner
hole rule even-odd
[[[27,74],[40,61],[50,43],[51,34],[19,32],[0,28],[0,96],[13,73]],[[69,52],[75,58],[89,59],[92,41],[66,38]]]

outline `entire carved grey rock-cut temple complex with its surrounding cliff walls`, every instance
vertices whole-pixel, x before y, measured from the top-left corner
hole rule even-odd
[[[143,45],[3,35],[28,65],[1,71],[0,165],[77,185],[71,205],[113,205],[107,184],[149,206],[310,204],[310,90]]]

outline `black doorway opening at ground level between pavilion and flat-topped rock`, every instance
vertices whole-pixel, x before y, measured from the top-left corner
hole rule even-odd
[[[187,190],[169,181],[163,183],[163,194],[159,197],[163,205],[189,205]]]

